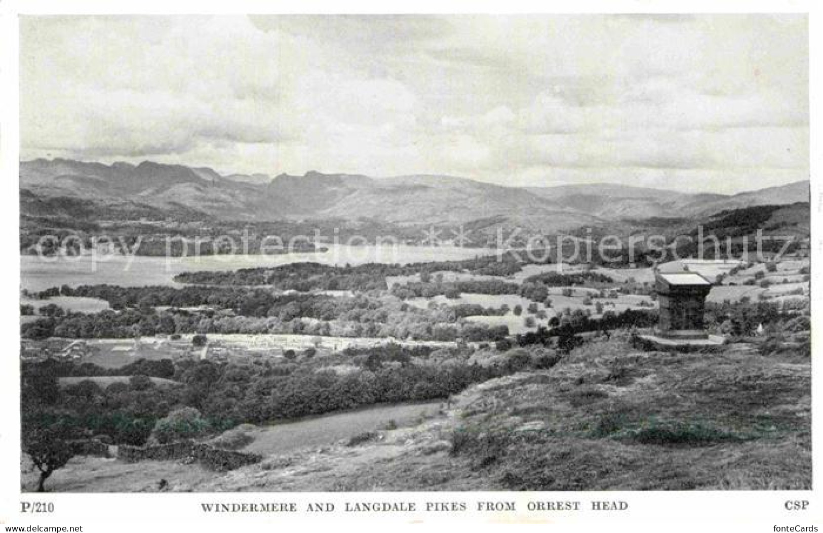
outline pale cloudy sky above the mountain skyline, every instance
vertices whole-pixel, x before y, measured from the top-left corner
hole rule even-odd
[[[732,193],[809,177],[800,15],[21,18],[21,160]]]

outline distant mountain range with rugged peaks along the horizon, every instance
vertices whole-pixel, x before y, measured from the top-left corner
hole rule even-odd
[[[160,211],[185,206],[230,220],[368,218],[401,225],[486,221],[542,231],[607,227],[624,219],[704,217],[747,206],[809,201],[807,180],[723,195],[611,183],[505,187],[437,175],[370,178],[312,171],[269,178],[151,161],[104,165],[64,159],[21,162],[20,188],[36,197],[131,202]],[[25,215],[25,208],[22,211]]]

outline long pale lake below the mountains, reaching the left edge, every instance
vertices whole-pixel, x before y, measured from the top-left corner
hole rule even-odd
[[[494,255],[491,248],[456,246],[348,246],[330,244],[326,252],[235,254],[199,257],[37,257],[21,256],[21,289],[45,290],[69,285],[140,285],[181,286],[174,276],[186,271],[235,271],[254,266],[277,266],[295,262],[318,262],[326,265],[361,265],[364,263],[408,264],[414,262],[453,261]]]

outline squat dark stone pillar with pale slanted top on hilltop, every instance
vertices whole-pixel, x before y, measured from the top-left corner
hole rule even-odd
[[[704,330],[706,296],[712,284],[695,272],[658,272],[654,289],[660,304],[659,335],[670,339],[708,339]]]

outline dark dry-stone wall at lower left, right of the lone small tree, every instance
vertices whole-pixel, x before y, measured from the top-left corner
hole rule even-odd
[[[146,447],[120,446],[118,457],[123,461],[198,461],[203,466],[217,471],[235,470],[252,465],[262,459],[253,453],[221,450],[208,444],[191,440]]]

